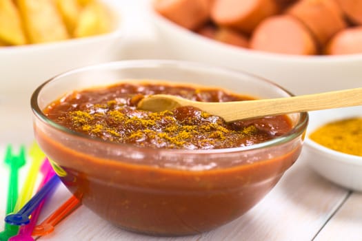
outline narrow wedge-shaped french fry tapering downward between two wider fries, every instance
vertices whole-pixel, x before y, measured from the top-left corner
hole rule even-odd
[[[73,35],[81,13],[81,5],[78,0],[57,0],[57,8],[66,23],[68,33]]]

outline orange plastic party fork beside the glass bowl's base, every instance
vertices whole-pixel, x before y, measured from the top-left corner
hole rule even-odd
[[[66,202],[61,205],[57,210],[55,210],[46,220],[37,225],[32,231],[34,236],[43,236],[54,231],[55,225],[57,225],[61,220],[66,218],[72,211],[81,206],[81,201],[76,197],[70,197]]]

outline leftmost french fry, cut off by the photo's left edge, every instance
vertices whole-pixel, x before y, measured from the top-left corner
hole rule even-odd
[[[0,41],[4,45],[26,44],[21,17],[12,0],[0,0]]]

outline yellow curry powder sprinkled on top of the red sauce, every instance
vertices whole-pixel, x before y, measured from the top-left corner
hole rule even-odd
[[[115,103],[108,101],[106,104],[94,105],[94,108],[101,109],[101,112],[95,109],[77,110],[69,112],[70,122],[74,128],[85,132],[90,136],[99,136],[102,134],[113,142],[140,142],[147,138],[156,139],[159,142],[170,143],[170,147],[183,147],[185,143],[190,142],[194,136],[203,136],[205,144],[214,145],[214,142],[223,142],[225,145],[232,146],[234,142],[232,135],[250,137],[258,132],[257,127],[250,125],[243,129],[228,129],[225,122],[219,119],[215,123],[204,121],[203,124],[196,125],[193,118],[185,118],[179,122],[171,111],[164,112],[137,112],[138,116],[128,116],[127,107],[119,106],[116,109]],[[201,118],[208,119],[212,115],[202,112]],[[106,117],[106,118],[105,118]],[[194,117],[196,118],[196,117]],[[112,125],[107,121],[109,119]],[[154,128],[159,123],[167,123],[165,128],[160,132]],[[123,128],[132,130],[125,132]]]

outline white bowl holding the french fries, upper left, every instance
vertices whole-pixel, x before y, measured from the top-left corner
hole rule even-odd
[[[119,59],[123,19],[114,1],[102,0],[114,14],[112,32],[51,43],[0,48],[0,103],[30,100],[35,88],[67,70]],[[15,100],[14,98],[17,98]]]

